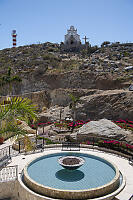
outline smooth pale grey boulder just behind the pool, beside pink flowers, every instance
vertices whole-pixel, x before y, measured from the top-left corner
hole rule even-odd
[[[112,121],[101,119],[99,121],[90,121],[83,125],[77,132],[77,138],[79,140],[85,140],[85,138],[88,138],[89,136],[100,136],[106,138],[123,139],[128,134],[130,134],[129,131],[125,131]]]

